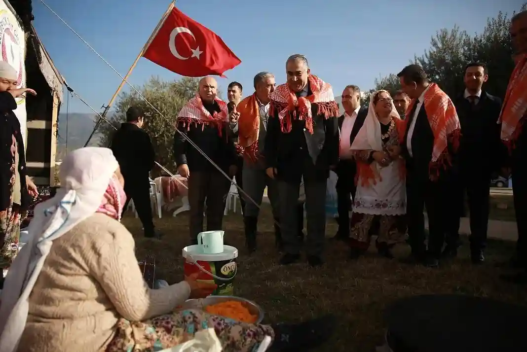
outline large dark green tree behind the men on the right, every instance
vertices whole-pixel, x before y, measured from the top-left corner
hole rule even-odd
[[[519,11],[526,8],[527,3],[524,3]],[[470,62],[482,62],[489,72],[489,81],[485,83],[485,89],[490,94],[503,98],[514,68],[511,58],[510,23],[508,14],[500,11],[497,17],[487,19],[483,32],[474,36],[461,31],[457,26],[450,31],[441,29],[432,37],[431,48],[421,57],[415,56],[410,63],[421,65],[432,82],[454,97],[462,94],[465,89],[465,65]],[[393,94],[398,88],[399,80],[392,73],[376,79],[375,89],[372,91],[386,89]]]

